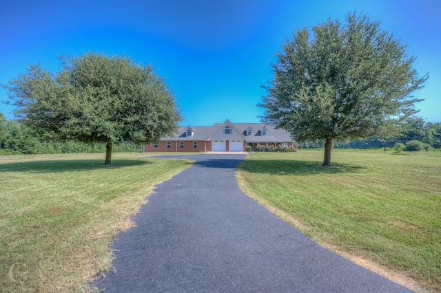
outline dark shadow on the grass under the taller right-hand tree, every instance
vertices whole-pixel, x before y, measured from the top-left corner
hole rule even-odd
[[[351,164],[333,164],[322,166],[315,161],[297,160],[245,160],[238,164],[238,171],[249,173],[267,173],[269,175],[314,175],[359,173],[366,168]]]

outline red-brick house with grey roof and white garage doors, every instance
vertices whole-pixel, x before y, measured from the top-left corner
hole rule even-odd
[[[144,152],[207,152],[254,151],[256,146],[292,146],[294,140],[283,129],[274,129],[264,123],[232,123],[228,119],[222,124],[209,127],[180,127],[172,137],[161,138],[157,144],[144,144]]]

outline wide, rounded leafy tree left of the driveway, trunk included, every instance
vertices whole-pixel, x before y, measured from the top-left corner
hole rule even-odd
[[[177,129],[174,95],[152,66],[93,53],[60,61],[57,73],[30,65],[3,85],[18,120],[42,138],[103,142],[110,164],[112,144],[156,142]]]

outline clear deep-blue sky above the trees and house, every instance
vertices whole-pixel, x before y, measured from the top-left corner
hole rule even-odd
[[[0,83],[40,62],[57,71],[57,55],[125,54],[152,64],[174,91],[182,125],[229,119],[258,122],[256,107],[271,79],[269,63],[296,28],[365,12],[408,44],[420,76],[430,74],[417,104],[441,122],[439,0],[76,0],[0,1]],[[0,100],[8,100],[0,88]],[[12,119],[11,106],[0,111]]]

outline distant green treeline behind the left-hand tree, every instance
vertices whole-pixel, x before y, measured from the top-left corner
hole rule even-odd
[[[141,145],[119,144],[113,146],[116,152],[141,152]],[[105,144],[84,142],[48,142],[32,135],[30,129],[16,120],[7,121],[0,113],[0,155],[21,155],[41,153],[105,153]]]

